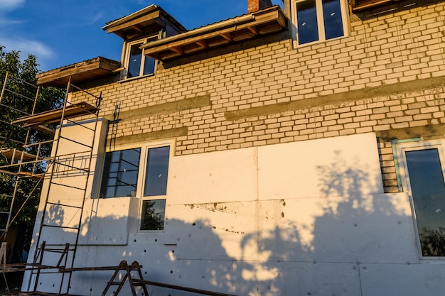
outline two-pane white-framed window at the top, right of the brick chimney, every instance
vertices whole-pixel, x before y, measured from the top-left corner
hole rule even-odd
[[[296,45],[346,35],[347,15],[344,0],[292,1]]]

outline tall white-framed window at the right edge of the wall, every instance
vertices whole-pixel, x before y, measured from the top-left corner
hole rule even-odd
[[[397,144],[400,175],[424,257],[445,257],[444,145],[445,141]]]

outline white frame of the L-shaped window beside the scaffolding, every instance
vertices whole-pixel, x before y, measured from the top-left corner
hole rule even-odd
[[[163,233],[165,231],[165,220],[166,220],[166,206],[167,206],[167,197],[168,197],[168,176],[166,181],[166,194],[165,195],[153,195],[153,196],[147,196],[144,197],[144,186],[145,186],[145,178],[146,178],[146,166],[147,166],[147,160],[148,160],[148,154],[149,150],[152,148],[161,148],[161,147],[169,147],[169,156],[168,156],[168,170],[171,163],[171,158],[173,158],[174,150],[176,148],[175,141],[173,140],[165,140],[165,141],[156,141],[156,142],[149,142],[149,143],[140,143],[139,145],[123,145],[123,146],[116,146],[112,149],[105,150],[104,151],[104,158],[102,161],[102,170],[100,175],[100,184],[98,188],[98,199],[112,199],[112,198],[134,198],[139,199],[138,206],[137,206],[137,232],[141,233]],[[100,192],[102,192],[102,182],[104,182],[104,168],[105,168],[105,155],[107,153],[112,153],[115,151],[120,150],[129,150],[129,149],[141,149],[141,155],[139,158],[139,168],[138,168],[138,177],[136,181],[136,192],[134,195],[130,197],[100,197]],[[142,207],[143,203],[146,200],[158,200],[158,199],[164,199],[165,200],[165,207],[164,207],[164,228],[163,230],[141,230],[141,224],[142,224]]]

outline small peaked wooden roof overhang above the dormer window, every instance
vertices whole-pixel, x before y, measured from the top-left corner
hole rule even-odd
[[[187,31],[181,23],[157,5],[150,5],[140,11],[111,21],[102,29],[107,33],[114,33],[124,40],[132,40],[150,34],[157,34],[161,28],[170,23],[179,32]]]

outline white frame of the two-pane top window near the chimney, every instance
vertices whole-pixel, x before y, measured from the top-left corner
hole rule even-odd
[[[306,1],[315,1],[315,3],[316,3],[318,40],[309,42],[309,43],[299,44],[296,4],[298,4],[299,2],[306,2]],[[292,25],[293,25],[291,31],[292,31],[294,48],[299,48],[301,46],[306,46],[306,45],[312,45],[315,43],[326,42],[328,40],[336,40],[336,39],[348,37],[348,35],[350,33],[348,2],[345,0],[340,0],[340,6],[341,6],[341,19],[342,19],[342,23],[343,23],[343,35],[336,37],[336,38],[326,39],[326,34],[325,34],[325,30],[324,30],[324,22],[323,22],[322,0],[291,0],[291,19],[292,19]]]

